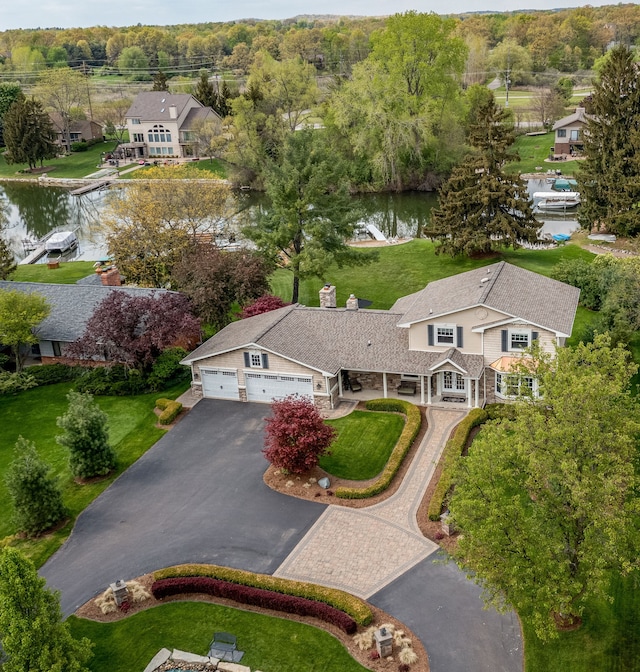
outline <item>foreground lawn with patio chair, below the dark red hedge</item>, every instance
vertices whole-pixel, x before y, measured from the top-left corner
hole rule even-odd
[[[242,665],[263,672],[365,672],[342,644],[303,623],[201,602],[172,602],[115,623],[71,616],[76,637],[95,642],[92,672],[143,670],[162,648],[205,655],[215,631],[232,632]]]

